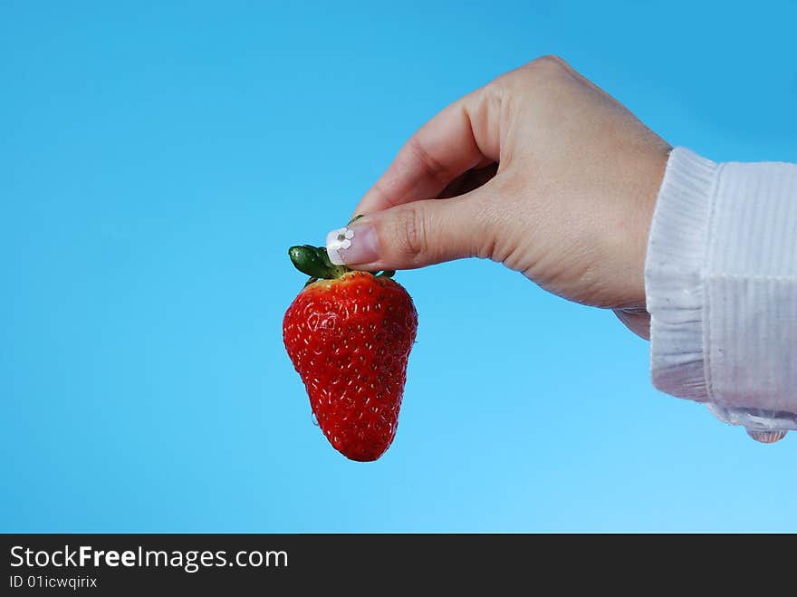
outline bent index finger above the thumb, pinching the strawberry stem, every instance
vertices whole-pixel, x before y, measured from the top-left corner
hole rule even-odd
[[[466,170],[498,161],[496,108],[488,89],[482,88],[440,111],[409,138],[354,213],[437,197]]]

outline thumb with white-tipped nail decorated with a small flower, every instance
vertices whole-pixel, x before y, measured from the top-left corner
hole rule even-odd
[[[412,201],[361,217],[327,235],[335,265],[411,269],[462,257],[491,257],[495,225],[485,185],[449,199]]]

